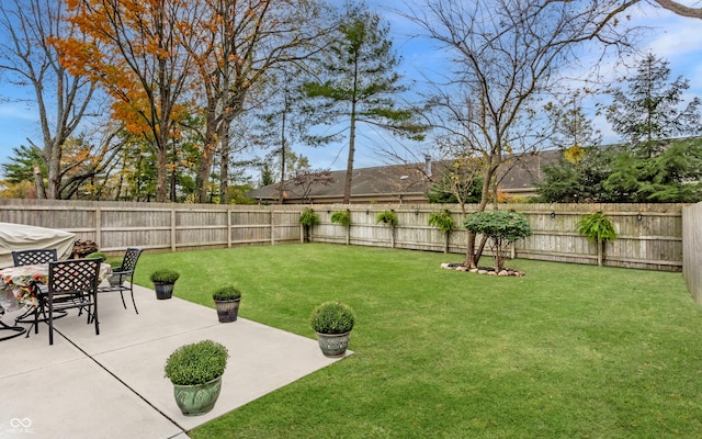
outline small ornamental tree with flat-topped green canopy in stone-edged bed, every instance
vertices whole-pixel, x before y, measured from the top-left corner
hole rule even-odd
[[[475,235],[488,238],[496,272],[505,267],[509,245],[531,235],[526,217],[512,211],[475,212],[465,218],[463,226]]]

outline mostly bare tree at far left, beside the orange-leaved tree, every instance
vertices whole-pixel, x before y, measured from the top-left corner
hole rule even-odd
[[[71,198],[107,160],[104,148],[84,142],[84,133],[76,134],[90,112],[93,81],[61,66],[47,44],[47,37],[77,37],[65,25],[65,14],[64,0],[0,2],[0,71],[11,83],[34,91],[41,140],[27,142],[41,151],[35,169],[45,169],[48,180],[45,188],[37,173],[37,195],[49,200]]]

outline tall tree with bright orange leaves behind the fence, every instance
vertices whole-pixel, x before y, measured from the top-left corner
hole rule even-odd
[[[49,38],[61,64],[87,75],[114,99],[112,113],[146,138],[157,157],[159,202],[167,199],[168,151],[185,115],[190,55],[183,31],[195,8],[186,0],[67,0],[81,37]]]

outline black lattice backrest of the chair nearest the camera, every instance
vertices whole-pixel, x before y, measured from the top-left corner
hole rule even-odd
[[[86,296],[98,289],[102,259],[68,259],[49,262],[48,293],[56,296]]]

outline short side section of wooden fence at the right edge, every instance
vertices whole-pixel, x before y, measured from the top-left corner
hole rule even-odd
[[[682,209],[682,275],[688,291],[702,305],[702,203]]]

